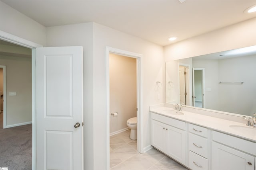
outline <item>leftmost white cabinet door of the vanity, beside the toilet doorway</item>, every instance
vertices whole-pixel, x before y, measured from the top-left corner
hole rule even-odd
[[[151,121],[151,145],[162,152],[166,152],[166,128],[159,121]]]

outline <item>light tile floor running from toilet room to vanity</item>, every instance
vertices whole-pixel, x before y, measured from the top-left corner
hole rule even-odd
[[[130,130],[110,137],[111,170],[188,170],[154,148],[140,154],[129,135]]]

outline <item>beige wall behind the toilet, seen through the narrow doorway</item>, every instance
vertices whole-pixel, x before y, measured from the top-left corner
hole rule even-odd
[[[110,134],[127,128],[126,121],[137,115],[136,59],[109,55],[110,74]]]

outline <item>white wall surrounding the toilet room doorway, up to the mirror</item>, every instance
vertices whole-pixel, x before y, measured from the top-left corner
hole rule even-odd
[[[163,47],[94,23],[94,161],[95,170],[106,169],[106,46],[143,55],[143,129],[144,146],[150,145],[149,106],[164,102]],[[156,82],[163,87],[160,95]],[[159,98],[158,98],[159,97]],[[100,107],[99,107],[100,106]],[[102,162],[101,164],[97,162]],[[104,163],[103,163],[104,162]]]

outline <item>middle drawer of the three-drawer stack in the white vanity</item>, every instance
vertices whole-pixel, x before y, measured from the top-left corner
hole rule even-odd
[[[205,158],[208,158],[208,140],[204,137],[189,133],[188,149]]]

